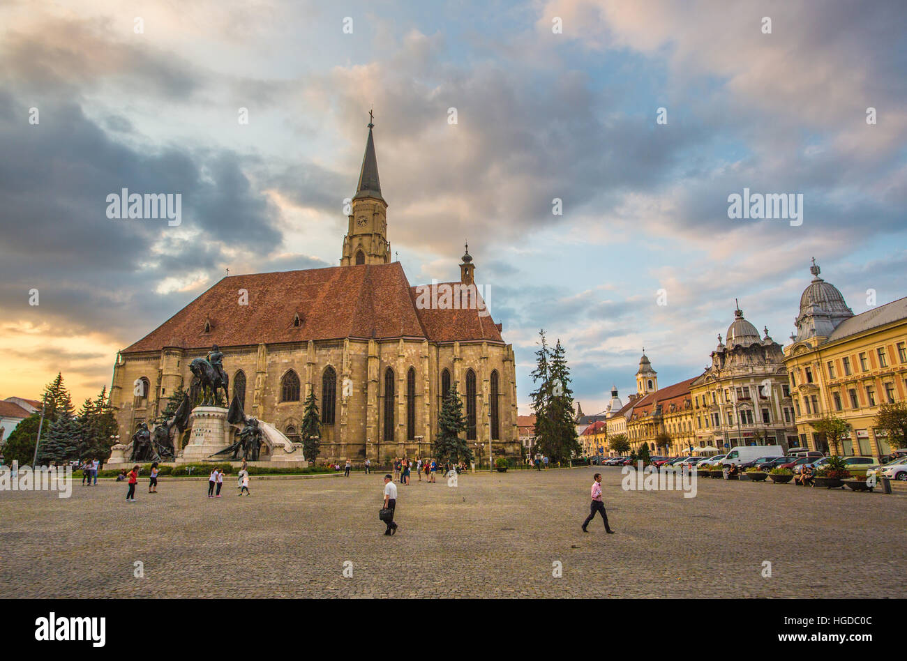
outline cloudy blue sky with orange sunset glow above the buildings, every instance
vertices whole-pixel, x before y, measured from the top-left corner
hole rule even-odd
[[[698,374],[735,298],[789,343],[810,258],[855,313],[907,296],[903,34],[882,1],[7,0],[0,397],[97,393],[227,267],[335,266],[371,107],[392,248],[416,285],[469,239],[521,413],[541,327],[595,413],[643,345]],[[181,225],[108,219],[122,188]],[[728,219],[744,188],[803,224]]]

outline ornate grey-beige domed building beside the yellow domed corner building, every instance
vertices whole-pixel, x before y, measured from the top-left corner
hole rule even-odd
[[[797,446],[784,352],[768,328],[764,333],[759,336],[737,304],[724,340],[718,335],[711,365],[690,385],[698,447]]]

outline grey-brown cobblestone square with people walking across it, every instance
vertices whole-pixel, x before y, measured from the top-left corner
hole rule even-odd
[[[614,535],[580,530],[597,470]],[[439,474],[398,487],[385,537],[382,476],[259,479],[249,498],[228,479],[219,499],[177,479],[150,495],[144,478],[136,503],[113,481],[3,491],[0,597],[907,597],[902,492],[706,479],[684,498],[623,491],[612,468],[455,488]]]

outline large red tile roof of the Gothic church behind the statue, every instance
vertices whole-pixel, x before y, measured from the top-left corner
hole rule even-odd
[[[239,305],[240,289],[248,292],[248,306]],[[414,296],[399,262],[224,277],[122,353],[346,337],[503,342],[491,316],[417,310]],[[297,314],[301,323],[293,326]]]

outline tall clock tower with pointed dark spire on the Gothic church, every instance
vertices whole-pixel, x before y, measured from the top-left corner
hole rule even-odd
[[[375,139],[369,112],[366,154],[359,170],[359,185],[353,196],[352,213],[346,237],[343,239],[343,257],[340,266],[356,264],[387,264],[391,260],[391,244],[387,242],[387,202],[381,197],[378,179],[378,160],[375,158]]]

